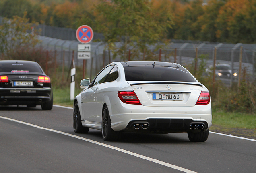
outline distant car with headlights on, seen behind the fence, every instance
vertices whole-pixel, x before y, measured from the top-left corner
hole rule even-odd
[[[209,71],[209,69],[206,69],[206,71]],[[230,79],[233,77],[234,80],[237,80],[238,74],[237,72],[233,72],[233,75],[231,74],[231,66],[229,64],[216,64],[215,65],[215,76],[219,78],[227,78]]]

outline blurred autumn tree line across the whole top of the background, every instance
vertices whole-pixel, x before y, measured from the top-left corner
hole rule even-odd
[[[25,11],[30,22],[74,29],[87,24],[107,39],[115,32],[147,42],[256,42],[256,0],[0,1],[0,16],[22,17]]]

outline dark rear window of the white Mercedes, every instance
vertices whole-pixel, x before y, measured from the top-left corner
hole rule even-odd
[[[166,66],[124,67],[126,81],[175,81],[196,82],[184,68]]]

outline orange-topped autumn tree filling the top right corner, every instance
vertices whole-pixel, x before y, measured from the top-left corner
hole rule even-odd
[[[220,9],[217,37],[223,42],[256,42],[256,0],[229,0]]]

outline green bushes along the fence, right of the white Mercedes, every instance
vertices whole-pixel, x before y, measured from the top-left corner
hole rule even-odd
[[[186,68],[193,76],[209,89],[211,95],[212,108],[218,111],[256,113],[256,81],[252,81],[251,76],[246,73],[246,68],[242,72],[242,80],[239,87],[237,83],[233,87],[226,87],[221,80],[215,78],[213,89],[213,69],[206,72],[206,60],[208,55],[198,56],[197,69],[195,70],[195,60]]]

